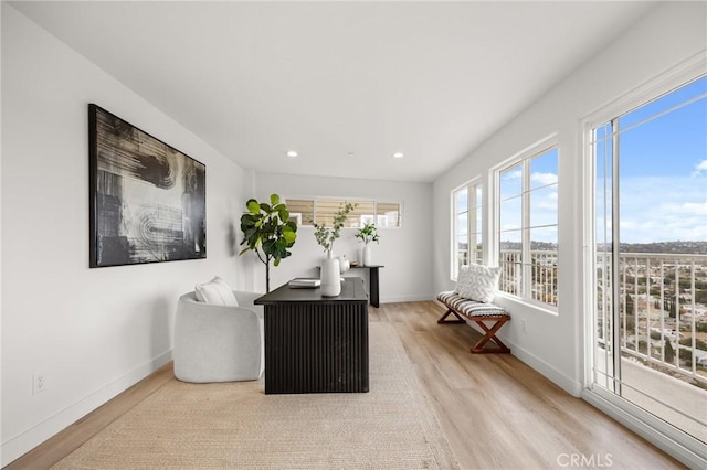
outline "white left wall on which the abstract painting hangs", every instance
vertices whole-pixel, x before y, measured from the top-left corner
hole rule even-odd
[[[207,259],[88,268],[88,103],[205,163]],[[180,293],[217,274],[244,285],[229,239],[251,181],[6,2],[2,117],[6,464],[167,363]]]

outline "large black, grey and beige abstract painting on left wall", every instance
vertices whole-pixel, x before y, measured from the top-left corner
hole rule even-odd
[[[207,257],[207,168],[88,105],[91,267]]]

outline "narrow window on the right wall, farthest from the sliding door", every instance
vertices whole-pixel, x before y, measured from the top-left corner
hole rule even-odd
[[[452,191],[452,279],[456,279],[460,266],[483,260],[482,184],[472,182]]]

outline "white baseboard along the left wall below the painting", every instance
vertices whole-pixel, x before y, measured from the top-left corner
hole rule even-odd
[[[50,416],[36,426],[33,426],[24,432],[11,438],[7,442],[3,442],[0,448],[1,466],[4,467],[22,457],[24,453],[76,423],[101,405],[104,405],[106,402],[114,398],[116,395],[125,392],[171,360],[172,351],[166,351],[151,361],[135,367],[133,371],[124,374],[96,392],[93,392],[73,405],[62,409],[53,416]]]

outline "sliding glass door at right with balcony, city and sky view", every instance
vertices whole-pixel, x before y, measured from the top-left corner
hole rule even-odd
[[[593,154],[595,383],[704,441],[707,78],[594,128]]]

